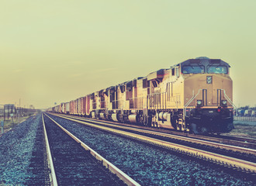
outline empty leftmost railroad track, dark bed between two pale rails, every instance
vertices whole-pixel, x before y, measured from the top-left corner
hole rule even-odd
[[[42,118],[52,185],[140,185],[50,116]]]

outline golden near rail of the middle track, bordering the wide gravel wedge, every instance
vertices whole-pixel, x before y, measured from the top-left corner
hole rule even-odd
[[[59,117],[64,118],[63,116],[59,116]],[[99,126],[99,125],[92,124],[89,122],[79,121],[77,119],[71,119],[71,118],[64,118],[64,119],[68,119],[68,120],[71,120],[74,122],[79,122],[81,124],[85,124],[86,126],[92,126],[96,129],[102,129],[107,132],[116,133],[121,136],[126,136],[129,138],[132,138],[134,140],[140,140],[145,143],[150,143],[150,144],[153,144],[156,146],[161,146],[166,149],[175,150],[180,153],[185,153],[192,157],[199,157],[201,159],[210,160],[214,163],[227,165],[227,166],[230,166],[233,168],[236,167],[237,169],[240,169],[240,170],[249,171],[249,172],[251,172],[251,174],[256,174],[256,164],[246,161],[246,160],[240,160],[240,159],[237,159],[234,157],[227,157],[227,156],[223,156],[223,155],[220,155],[217,153],[211,153],[206,150],[198,150],[198,149],[195,149],[195,148],[192,148],[189,146],[183,146],[183,145],[179,145],[179,144],[175,144],[175,143],[166,142],[163,140],[157,140],[157,139],[154,139],[151,137],[142,136],[140,134],[135,134],[135,133],[125,132],[125,131],[120,131],[118,129],[108,128],[106,126]]]

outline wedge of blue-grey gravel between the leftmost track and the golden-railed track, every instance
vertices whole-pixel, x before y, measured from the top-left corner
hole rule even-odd
[[[254,185],[152,146],[52,116],[81,141],[142,185]]]

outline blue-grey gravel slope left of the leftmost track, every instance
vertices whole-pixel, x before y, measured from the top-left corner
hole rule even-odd
[[[29,164],[40,122],[37,114],[0,137],[0,184],[24,185],[33,177]]]

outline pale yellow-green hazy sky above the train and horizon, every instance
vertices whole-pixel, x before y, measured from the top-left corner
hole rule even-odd
[[[255,0],[0,0],[0,104],[48,108],[195,57],[256,105]]]

